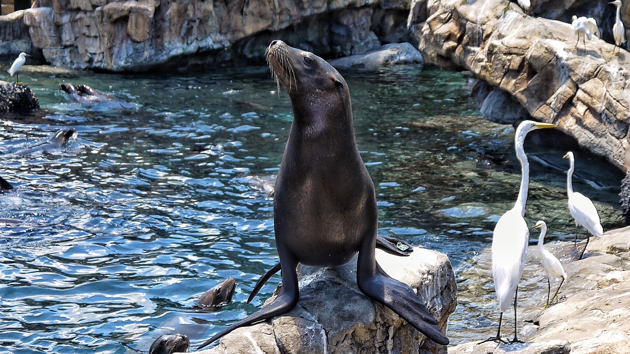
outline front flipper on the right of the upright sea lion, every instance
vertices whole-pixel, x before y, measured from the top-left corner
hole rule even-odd
[[[365,237],[358,253],[357,283],[360,290],[370,299],[396,312],[430,340],[441,345],[449,344],[449,338],[442,333],[413,289],[389,277],[375,261],[373,243],[369,242],[369,238]]]

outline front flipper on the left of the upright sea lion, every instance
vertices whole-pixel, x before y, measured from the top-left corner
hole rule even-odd
[[[249,326],[250,324],[254,324],[260,321],[265,321],[275,316],[280,316],[291,311],[295,305],[297,305],[297,301],[300,299],[300,288],[297,283],[297,260],[295,256],[291,254],[286,248],[282,247],[278,244],[278,256],[280,256],[280,265],[284,269],[282,271],[282,288],[280,288],[280,292],[278,296],[271,302],[271,304],[266,305],[260,311],[255,312],[241,321],[238,321],[232,326],[222,330],[221,332],[215,334],[209,340],[203,342],[202,345],[198,346],[197,349],[201,349],[204,346],[209,345],[215,340],[219,340],[222,336],[234,331],[234,329]],[[275,268],[275,267],[274,267]]]

